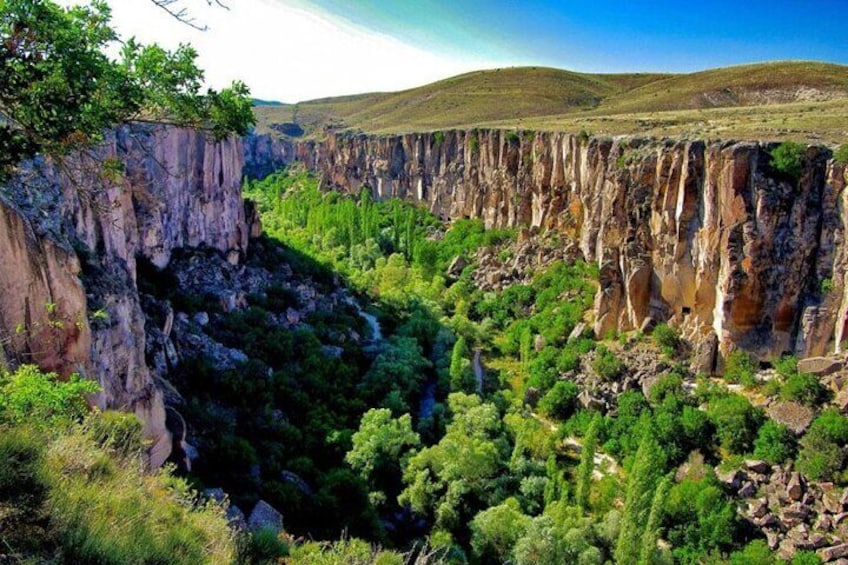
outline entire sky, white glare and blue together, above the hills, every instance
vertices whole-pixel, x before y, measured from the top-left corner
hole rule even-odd
[[[64,4],[85,0],[60,0]],[[199,52],[207,82],[296,102],[518,65],[689,72],[777,59],[848,63],[848,0],[108,0],[122,36]],[[214,3],[213,3],[214,4]]]

